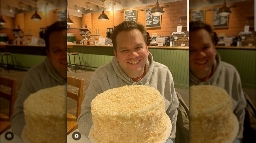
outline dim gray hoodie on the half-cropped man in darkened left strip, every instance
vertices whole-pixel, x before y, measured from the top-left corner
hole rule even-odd
[[[14,103],[13,114],[11,116],[11,129],[16,135],[21,135],[25,126],[23,102],[30,94],[44,88],[65,85],[67,81],[62,78],[52,66],[52,63],[45,60],[29,69],[23,79],[22,86]]]

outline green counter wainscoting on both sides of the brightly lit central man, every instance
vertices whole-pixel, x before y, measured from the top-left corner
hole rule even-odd
[[[69,51],[78,52],[83,68],[93,71],[114,57],[113,47],[73,45]],[[149,48],[149,52],[153,55],[154,61],[169,68],[175,88],[188,90],[188,49]],[[74,63],[74,57],[70,56],[70,59]],[[75,61],[79,62],[78,56],[75,56]]]

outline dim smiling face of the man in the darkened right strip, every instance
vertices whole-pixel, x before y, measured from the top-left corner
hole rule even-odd
[[[205,29],[189,32],[189,69],[198,77],[210,75],[216,49]]]

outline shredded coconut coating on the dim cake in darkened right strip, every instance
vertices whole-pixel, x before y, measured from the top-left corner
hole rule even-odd
[[[227,92],[211,85],[189,87],[189,142],[233,141],[232,101]]]

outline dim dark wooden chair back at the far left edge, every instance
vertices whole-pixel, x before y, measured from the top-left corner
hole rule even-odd
[[[14,102],[15,102],[16,80],[1,76],[0,77],[0,85],[11,88],[11,93],[7,93],[5,91],[0,91],[0,97],[10,101],[9,119],[11,119],[11,115],[13,113],[13,106],[14,106]]]

